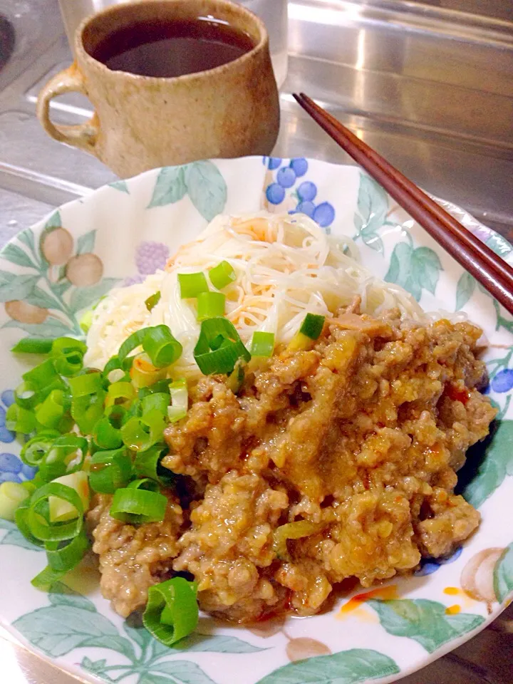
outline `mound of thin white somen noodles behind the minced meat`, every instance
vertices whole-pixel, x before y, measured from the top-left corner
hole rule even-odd
[[[356,295],[361,296],[364,314],[378,316],[398,307],[405,317],[424,319],[408,292],[376,278],[357,259],[358,249],[350,239],[326,235],[304,214],[218,216],[178,250],[165,271],[142,284],[113,289],[100,301],[88,333],[86,364],[103,368],[130,333],[165,323],[183,346],[173,375],[198,378],[195,300],[180,299],[177,276],[203,271],[208,280],[209,269],[222,260],[237,275],[223,289],[226,316],[247,345],[254,331],[274,333],[276,346],[288,343],[308,312],[334,315]],[[160,301],[147,311],[145,300],[156,291]]]

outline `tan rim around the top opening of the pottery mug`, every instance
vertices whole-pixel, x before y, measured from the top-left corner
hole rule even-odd
[[[90,61],[95,65],[96,68],[100,68],[100,71],[104,71],[107,74],[123,74],[124,77],[126,78],[132,78],[136,81],[140,81],[143,79],[144,81],[192,81],[197,78],[204,78],[205,74],[210,74],[210,73],[222,73],[223,71],[226,71],[227,69],[231,68],[233,64],[242,64],[249,59],[251,59],[255,54],[259,53],[261,50],[265,48],[265,46],[269,46],[269,33],[267,31],[267,28],[264,24],[264,22],[257,16],[257,14],[254,14],[251,10],[247,9],[247,7],[244,7],[242,5],[236,4],[235,2],[232,2],[232,0],[200,0],[202,2],[212,2],[212,4],[216,4],[217,6],[225,6],[229,9],[235,9],[240,15],[246,16],[247,19],[250,19],[255,26],[257,26],[258,31],[259,31],[259,41],[254,45],[254,47],[251,48],[251,50],[248,50],[241,56],[230,60],[229,62],[226,62],[224,64],[221,64],[219,66],[215,66],[214,68],[211,69],[204,69],[202,71],[193,71],[192,73],[185,73],[182,74],[182,76],[144,76],[143,74],[138,74],[138,73],[131,73],[130,71],[122,71],[122,70],[115,70],[115,69],[110,69],[108,66],[106,66],[103,62],[100,62],[98,59],[90,55],[88,51],[86,50],[86,47],[83,44],[83,33],[86,30],[87,26],[90,26],[90,24],[93,24],[93,22],[98,21],[98,19],[101,19],[103,16],[107,16],[109,14],[118,14],[119,12],[125,12],[130,9],[130,7],[133,7],[135,5],[142,5],[144,4],[145,6],[149,5],[162,5],[162,4],[186,4],[190,3],[191,1],[195,0],[130,0],[128,2],[122,2],[120,4],[115,4],[115,5],[109,5],[108,7],[105,7],[104,9],[95,12],[95,14],[90,14],[89,16],[86,16],[81,23],[78,25],[76,32],[75,32],[75,51],[76,55],[79,53],[86,59],[86,61]]]

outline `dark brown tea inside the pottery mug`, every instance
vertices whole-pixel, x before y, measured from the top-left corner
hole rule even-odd
[[[247,33],[211,17],[145,21],[118,29],[90,56],[112,71],[172,78],[222,66],[254,48]]]

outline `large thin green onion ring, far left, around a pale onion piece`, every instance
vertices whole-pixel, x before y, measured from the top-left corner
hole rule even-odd
[[[82,472],[82,471],[81,471]],[[78,475],[78,473],[74,473]],[[66,476],[70,477],[70,476]],[[44,517],[44,504],[50,497],[63,499],[75,509],[75,517],[70,522],[50,522]],[[49,482],[36,489],[28,505],[26,522],[33,537],[41,541],[62,541],[73,539],[83,527],[84,506],[81,497],[71,487],[60,482]]]

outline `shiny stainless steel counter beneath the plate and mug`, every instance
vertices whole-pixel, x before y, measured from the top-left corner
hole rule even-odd
[[[276,155],[350,162],[292,100],[292,91],[304,90],[415,182],[512,239],[512,3],[294,0],[289,10],[289,77]],[[113,174],[48,138],[35,118],[38,88],[71,59],[57,0],[0,0],[0,15],[16,34],[10,60],[3,68],[0,62],[4,244],[51,207],[86,195]],[[66,95],[54,103],[53,117],[77,123],[89,107]],[[71,683],[1,634],[1,681]],[[403,681],[511,684],[512,634],[513,606],[480,636]]]

